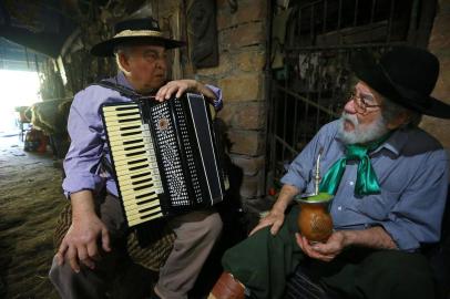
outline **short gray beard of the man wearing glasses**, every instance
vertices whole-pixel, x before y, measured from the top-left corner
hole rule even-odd
[[[344,122],[346,120],[354,124],[354,131],[347,132],[344,130]],[[361,128],[356,115],[342,112],[342,115],[339,118],[337,136],[345,144],[364,144],[376,141],[388,132],[389,130],[387,128],[387,124],[382,115]]]

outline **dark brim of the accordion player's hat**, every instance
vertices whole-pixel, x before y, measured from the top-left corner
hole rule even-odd
[[[165,49],[175,49],[184,47],[185,42],[162,37],[120,37],[95,44],[92,47],[90,53],[95,56],[113,56],[114,48],[120,44],[157,44],[163,45]]]

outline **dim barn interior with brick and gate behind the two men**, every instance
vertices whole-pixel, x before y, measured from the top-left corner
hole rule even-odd
[[[59,298],[48,272],[68,217],[61,184],[70,106],[79,91],[117,72],[114,59],[90,49],[113,34],[115,22],[149,16],[187,42],[168,54],[171,78],[223,93],[215,125],[231,184],[218,207],[224,233],[191,298],[206,298],[224,250],[270,208],[293,158],[339,117],[355,53],[428,49],[441,65],[432,95],[450,103],[446,0],[1,0],[0,298]],[[425,116],[420,127],[450,153],[450,121]],[[436,262],[444,265],[439,298],[450,298],[447,235],[447,247],[437,249]],[[135,239],[130,248],[133,264],[109,298],[145,298],[157,276],[157,262]]]

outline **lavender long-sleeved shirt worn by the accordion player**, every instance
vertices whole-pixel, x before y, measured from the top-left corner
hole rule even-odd
[[[126,78],[120,72],[110,79],[120,85],[133,89]],[[222,107],[222,91],[215,86],[206,85],[216,95],[214,107]],[[100,190],[104,184],[110,194],[117,196],[117,187],[110,174],[101,173],[101,158],[103,155],[111,162],[105,131],[101,117],[101,105],[104,103],[130,102],[117,91],[99,85],[88,86],[73,99],[70,109],[68,132],[71,145],[64,159],[65,178],[62,183],[65,196],[83,189]]]

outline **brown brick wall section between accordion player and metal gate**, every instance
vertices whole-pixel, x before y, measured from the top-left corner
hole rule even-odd
[[[228,1],[217,0],[219,66],[197,71],[223,89],[232,162],[242,168],[243,200],[264,195],[265,182],[265,75],[267,1],[242,0],[232,13]]]

